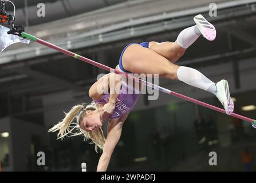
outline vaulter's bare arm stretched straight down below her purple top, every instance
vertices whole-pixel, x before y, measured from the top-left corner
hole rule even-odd
[[[120,118],[109,120],[108,136],[103,148],[103,153],[101,154],[101,157],[97,166],[97,172],[104,172],[107,170],[112,153],[117,143],[120,140],[124,121],[126,120],[128,115],[129,113],[124,114],[124,116]]]

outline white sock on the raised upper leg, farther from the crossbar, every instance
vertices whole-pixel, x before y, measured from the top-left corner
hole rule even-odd
[[[200,30],[196,25],[188,27],[187,29],[184,29],[180,32],[176,43],[178,43],[178,45],[183,47],[184,49],[187,49],[190,45],[192,45],[192,43],[196,41],[196,39],[199,38],[200,35]]]

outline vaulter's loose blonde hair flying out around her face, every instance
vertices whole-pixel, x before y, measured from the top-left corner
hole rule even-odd
[[[53,126],[53,128],[49,129],[48,132],[58,132],[57,139],[63,140],[64,137],[72,137],[72,136],[84,136],[84,140],[91,140],[90,144],[95,144],[95,151],[98,152],[98,148],[101,150],[105,144],[105,137],[103,134],[103,130],[101,128],[97,130],[93,130],[90,132],[86,132],[80,128],[79,122],[86,116],[85,110],[96,110],[97,104],[92,101],[90,104],[81,104],[73,106],[72,109],[65,113],[65,118],[58,122],[57,125]],[[74,118],[76,118],[76,122],[73,122]]]

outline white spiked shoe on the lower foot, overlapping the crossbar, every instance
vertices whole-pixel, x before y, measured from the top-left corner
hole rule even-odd
[[[226,80],[222,79],[221,81],[216,83],[217,94],[216,97],[219,99],[221,104],[223,105],[226,113],[231,115],[234,111],[234,102],[231,100],[229,93],[229,84]]]

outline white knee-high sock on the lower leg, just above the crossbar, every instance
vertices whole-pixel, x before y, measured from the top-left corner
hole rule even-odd
[[[181,66],[177,70],[177,76],[180,81],[183,81],[188,85],[206,90],[207,92],[211,92],[216,96],[217,87],[215,83],[205,77],[198,70],[192,69],[190,67]]]

